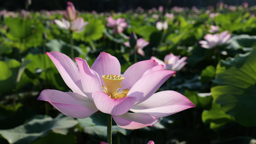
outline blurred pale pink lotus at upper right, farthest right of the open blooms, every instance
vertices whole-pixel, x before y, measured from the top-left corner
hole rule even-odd
[[[218,45],[223,45],[226,43],[231,37],[229,31],[221,32],[220,34],[207,34],[204,38],[205,40],[201,40],[198,43],[201,44],[202,48],[214,48]]]

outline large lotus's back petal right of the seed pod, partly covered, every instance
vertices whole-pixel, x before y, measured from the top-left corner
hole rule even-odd
[[[122,81],[124,86],[122,89],[131,89],[131,87],[141,78],[144,72],[157,65],[158,63],[156,60],[144,60],[130,66],[122,75],[124,77],[124,80]]]

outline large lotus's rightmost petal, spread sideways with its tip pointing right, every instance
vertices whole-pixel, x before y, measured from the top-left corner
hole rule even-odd
[[[175,91],[161,91],[135,105],[131,111],[156,115],[159,118],[172,115],[195,105],[185,96]]]

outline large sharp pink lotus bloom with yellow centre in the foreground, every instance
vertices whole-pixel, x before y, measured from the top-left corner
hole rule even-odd
[[[48,101],[66,116],[84,119],[99,110],[111,114],[121,128],[139,129],[153,126],[158,118],[195,107],[175,91],[155,93],[175,73],[164,70],[155,60],[137,62],[120,76],[119,61],[105,52],[91,68],[81,58],[75,58],[77,67],[60,52],[47,55],[73,92],[46,89],[37,99]]]

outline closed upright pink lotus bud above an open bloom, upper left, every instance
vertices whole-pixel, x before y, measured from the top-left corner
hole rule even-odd
[[[68,21],[73,21],[77,18],[77,13],[72,2],[67,2],[66,10],[63,11],[64,18]]]

